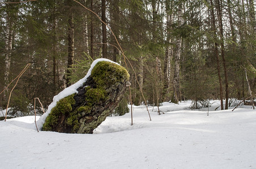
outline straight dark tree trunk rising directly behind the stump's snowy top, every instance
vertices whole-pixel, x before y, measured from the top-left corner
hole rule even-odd
[[[106,0],[101,0],[101,19],[106,23]],[[106,56],[106,25],[102,23],[102,57]]]

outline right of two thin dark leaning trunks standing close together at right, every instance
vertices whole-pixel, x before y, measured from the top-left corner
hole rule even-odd
[[[228,109],[228,73],[227,73],[227,65],[224,55],[224,36],[223,36],[223,23],[222,23],[222,0],[216,0],[217,5],[217,17],[219,20],[219,29],[220,29],[220,39],[221,39],[221,57],[223,62],[224,74],[225,74],[225,92],[226,92],[226,101],[225,101],[225,109]]]

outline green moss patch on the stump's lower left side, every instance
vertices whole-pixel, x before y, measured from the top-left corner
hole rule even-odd
[[[74,96],[75,94],[69,95],[57,102],[56,106],[54,106],[50,114],[46,117],[42,130],[52,131],[58,123],[59,115],[72,111],[72,105],[75,104]]]

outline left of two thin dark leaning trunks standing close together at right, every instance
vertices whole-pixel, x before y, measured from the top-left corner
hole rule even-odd
[[[214,30],[214,55],[216,57],[217,62],[217,73],[219,77],[219,84],[220,84],[220,107],[221,110],[223,110],[223,89],[222,89],[222,82],[221,82],[221,76],[220,76],[220,61],[219,61],[219,52],[218,52],[218,45],[217,45],[217,38],[216,38],[216,25],[215,25],[215,15],[214,15],[214,3],[212,0],[211,2],[211,16],[212,16],[212,29]]]

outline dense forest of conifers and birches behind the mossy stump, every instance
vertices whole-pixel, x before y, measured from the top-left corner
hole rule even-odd
[[[11,92],[12,115],[33,113],[35,98],[47,108],[98,58],[130,73],[118,114],[130,103],[193,100],[200,109],[218,99],[228,109],[253,100],[255,7],[253,0],[1,0],[0,108]]]

